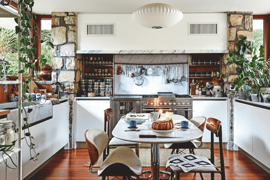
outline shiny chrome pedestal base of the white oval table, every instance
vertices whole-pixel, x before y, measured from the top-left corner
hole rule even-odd
[[[151,144],[151,170],[143,170],[142,173],[149,173],[148,177],[139,177],[139,179],[150,179],[153,177],[153,180],[160,179],[170,179],[170,177],[160,177],[159,173],[164,173],[170,175],[171,173],[164,170],[159,170],[159,144]],[[175,176],[174,176],[175,177]],[[136,176],[132,176],[133,179],[136,179]]]

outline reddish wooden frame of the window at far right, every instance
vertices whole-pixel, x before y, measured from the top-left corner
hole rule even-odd
[[[265,61],[270,58],[270,15],[253,15],[254,19],[264,20],[263,24],[263,45],[265,50]]]

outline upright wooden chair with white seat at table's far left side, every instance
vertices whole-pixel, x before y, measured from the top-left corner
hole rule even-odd
[[[111,108],[104,110],[104,131],[107,132],[108,137],[110,137],[110,120],[112,117],[113,117],[113,110]],[[103,161],[110,154],[110,149],[115,149],[119,146],[128,146],[130,148],[135,148],[135,152],[139,157],[139,145],[140,143],[124,141],[116,137],[113,137],[112,139],[108,140],[106,149],[103,152]]]

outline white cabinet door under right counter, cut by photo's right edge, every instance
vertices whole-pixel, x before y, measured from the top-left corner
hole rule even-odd
[[[253,107],[253,157],[270,168],[270,110]],[[250,140],[251,141],[251,140]]]

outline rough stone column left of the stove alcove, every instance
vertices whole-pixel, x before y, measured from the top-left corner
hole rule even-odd
[[[69,148],[73,146],[73,99],[79,90],[82,76],[81,59],[76,57],[76,14],[74,12],[52,12],[52,81],[65,85],[60,88],[61,96],[69,99]],[[52,87],[55,91],[55,87]]]

